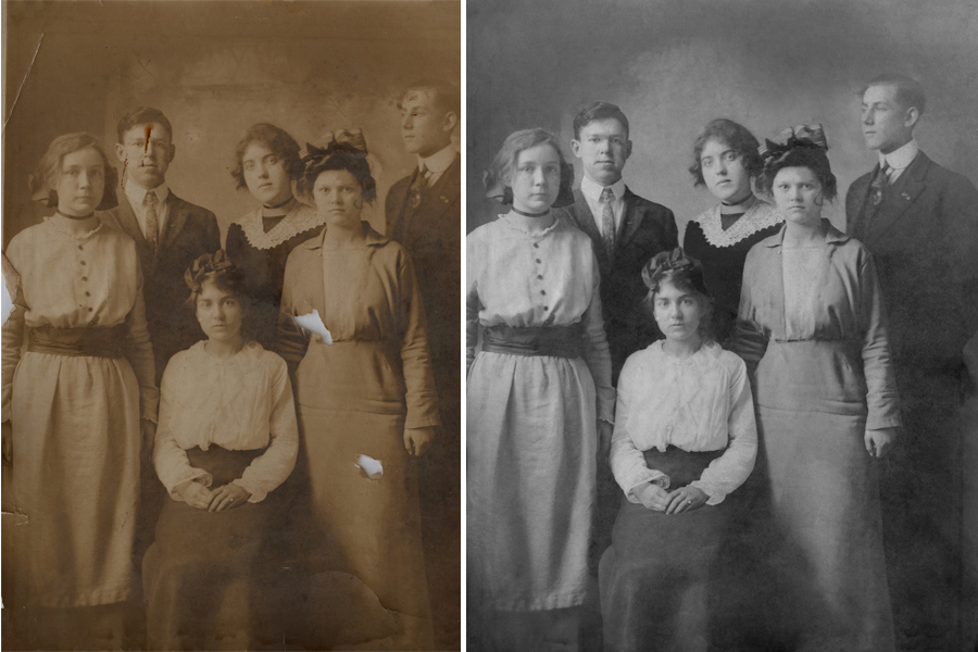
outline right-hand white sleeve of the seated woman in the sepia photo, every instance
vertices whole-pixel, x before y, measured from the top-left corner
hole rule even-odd
[[[233,482],[251,492],[248,502],[260,502],[277,489],[292,473],[299,452],[299,425],[296,421],[292,384],[289,381],[286,364],[281,360],[277,362],[268,392],[268,400],[272,402],[268,448],[261,456],[252,460],[241,477]]]

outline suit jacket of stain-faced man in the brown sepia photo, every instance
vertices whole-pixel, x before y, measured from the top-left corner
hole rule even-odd
[[[156,242],[155,254],[147,246],[125,193],[120,193],[116,208],[99,214],[108,226],[136,240],[158,385],[173,354],[203,339],[195,311],[185,303],[190,289],[184,280],[184,272],[197,256],[221,249],[221,230],[214,213],[184,201],[172,191],[166,201],[170,214]]]

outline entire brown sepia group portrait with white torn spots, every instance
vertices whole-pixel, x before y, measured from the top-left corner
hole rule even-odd
[[[460,649],[461,3],[3,10],[2,648]]]

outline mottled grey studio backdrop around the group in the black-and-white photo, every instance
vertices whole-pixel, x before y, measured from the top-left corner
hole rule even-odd
[[[625,181],[672,209],[680,234],[716,202],[704,188],[693,188],[687,171],[706,122],[728,117],[760,139],[790,125],[822,123],[840,189],[825,214],[844,226],[844,191],[877,160],[864,146],[857,93],[886,72],[924,84],[927,109],[917,141],[931,159],[978,184],[974,0],[480,0],[468,3],[467,14],[469,230],[501,212],[484,198],[481,174],[503,139],[516,129],[543,127],[557,134],[570,156],[572,120],[597,100],[618,104],[631,123],[634,153]],[[579,162],[570,160],[579,181]],[[886,503],[885,497],[885,518],[898,524],[888,530],[887,546],[903,650],[945,649],[936,641],[956,638],[945,626],[961,628],[961,650],[970,651],[978,640],[975,404],[971,398],[969,429],[960,443],[933,452],[949,464],[948,504],[933,531],[906,537],[900,515],[924,506]],[[887,482],[901,481],[893,469],[913,467],[901,454],[898,448],[899,466],[891,461]],[[917,585],[902,572],[907,564],[925,568],[930,555],[952,550],[961,560],[958,572],[940,584]]]

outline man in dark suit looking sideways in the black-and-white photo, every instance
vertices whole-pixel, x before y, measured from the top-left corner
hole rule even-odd
[[[845,215],[876,260],[904,421],[881,490],[893,613],[903,614],[902,643],[960,649],[964,615],[949,578],[961,577],[958,392],[978,328],[978,192],[917,146],[919,83],[883,75],[862,97],[863,136],[879,163],[849,188]]]

